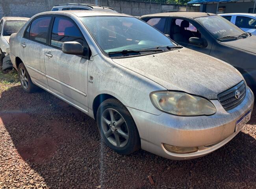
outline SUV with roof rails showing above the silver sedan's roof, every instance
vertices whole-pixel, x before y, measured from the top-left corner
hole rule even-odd
[[[94,4],[84,4],[84,3],[66,3],[66,4],[58,4],[52,7],[51,11],[67,11],[67,10],[96,10],[96,11],[111,11],[117,12],[111,7],[105,7]]]

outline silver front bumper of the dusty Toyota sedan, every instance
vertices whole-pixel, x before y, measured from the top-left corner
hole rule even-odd
[[[247,88],[243,102],[228,111],[224,110],[218,100],[211,102],[217,109],[212,116],[183,117],[166,113],[157,116],[127,108],[137,125],[142,149],[165,158],[186,160],[205,156],[234,138],[238,133],[234,132],[236,121],[253,108],[254,95]],[[163,143],[178,147],[198,147],[198,151],[171,153],[163,147]]]

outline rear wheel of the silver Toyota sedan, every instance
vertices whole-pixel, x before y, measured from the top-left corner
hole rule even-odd
[[[19,81],[22,86],[22,89],[27,93],[32,93],[37,91],[38,87],[32,83],[30,75],[28,74],[28,71],[23,63],[19,64],[18,72],[19,72]]]

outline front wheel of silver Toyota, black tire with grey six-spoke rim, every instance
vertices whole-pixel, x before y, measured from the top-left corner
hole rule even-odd
[[[140,137],[134,119],[120,101],[112,98],[103,101],[97,110],[96,119],[101,137],[115,152],[128,155],[140,149]]]

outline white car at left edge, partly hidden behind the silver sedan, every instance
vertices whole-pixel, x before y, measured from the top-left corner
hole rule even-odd
[[[20,28],[28,21],[26,17],[2,17],[0,20],[0,63],[3,64],[3,70],[5,68],[4,62],[9,62],[12,67],[9,56],[9,38],[12,33],[17,33]],[[6,61],[4,58],[6,57]]]

